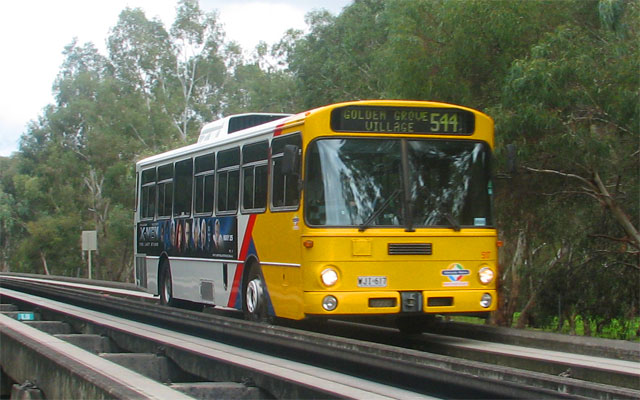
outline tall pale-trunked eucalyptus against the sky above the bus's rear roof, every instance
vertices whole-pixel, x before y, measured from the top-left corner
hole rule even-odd
[[[165,147],[185,144],[220,113],[223,39],[217,14],[203,12],[195,0],[178,3],[169,31],[140,9],[120,14],[108,39],[109,59],[122,87],[145,106],[148,126],[141,140],[153,135]]]

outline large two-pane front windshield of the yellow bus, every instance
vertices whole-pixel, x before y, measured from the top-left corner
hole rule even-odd
[[[489,146],[471,140],[319,139],[307,151],[305,218],[361,230],[489,227],[490,163]]]

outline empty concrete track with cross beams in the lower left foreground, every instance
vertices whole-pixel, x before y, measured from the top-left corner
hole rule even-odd
[[[93,352],[103,357],[100,358],[91,351],[73,348],[75,346],[8,316],[0,316],[3,369],[14,379],[24,380],[30,374],[36,376],[32,382],[37,382],[36,386],[47,398],[188,397],[181,392],[197,398],[428,398],[401,388],[278,359],[24,291],[3,287],[0,295],[3,301],[16,303],[12,304],[16,308],[34,308],[45,319],[55,319],[29,324],[46,324],[40,328],[63,332],[57,336],[64,337],[64,340],[80,344],[96,336],[108,338],[107,346],[104,343],[92,345]],[[69,335],[68,331],[89,331],[91,334]],[[119,352],[106,353],[103,352],[104,347],[115,347]],[[122,350],[128,352],[123,353]],[[139,373],[132,373],[114,363],[136,369]],[[38,369],[42,365],[44,373],[42,367],[40,371],[24,371],[29,366]],[[214,379],[225,382],[202,382]],[[169,387],[161,384],[176,380],[184,382],[173,383]]]

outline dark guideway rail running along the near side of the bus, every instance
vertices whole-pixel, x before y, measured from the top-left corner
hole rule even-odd
[[[154,321],[171,329],[197,332],[199,335],[259,349],[261,352],[295,358],[304,364],[338,369],[369,382],[405,387],[417,393],[450,398],[557,398],[565,394],[565,385],[530,385],[530,374],[509,369],[455,360],[450,357],[413,352],[311,332],[266,326],[180,309],[150,306],[139,301],[109,298],[57,285],[1,280],[3,287],[31,293],[44,293],[84,308],[107,310],[135,320]],[[523,375],[528,376],[523,379]]]

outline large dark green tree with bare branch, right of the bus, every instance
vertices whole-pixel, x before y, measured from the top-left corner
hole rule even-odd
[[[638,4],[608,1],[597,9],[601,23],[559,26],[513,62],[493,115],[498,140],[517,144],[526,174],[514,177],[507,200],[520,199],[521,210],[508,207],[501,220],[526,221],[532,247],[551,250],[529,266],[529,300],[555,286],[565,308],[572,299],[573,313],[588,317],[603,315],[591,300],[606,293],[611,319],[634,315],[639,304]],[[562,274],[574,285],[558,288]],[[536,300],[526,302],[525,316]],[[545,307],[541,316],[557,308]]]

